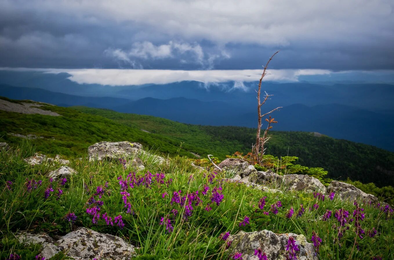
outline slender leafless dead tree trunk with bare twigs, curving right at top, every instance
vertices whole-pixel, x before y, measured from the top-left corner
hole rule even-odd
[[[279,108],[281,108],[281,107],[278,107],[278,108],[275,108],[274,110],[271,110],[270,112],[268,112],[268,113],[266,113],[266,114],[264,114],[264,115],[261,114],[261,106],[262,106],[264,103],[266,103],[267,99],[268,99],[270,96],[272,96],[272,95],[268,95],[268,93],[265,92],[265,93],[266,93],[266,96],[264,97],[263,102],[261,102],[261,100],[260,100],[261,82],[262,82],[264,76],[266,75],[266,70],[267,70],[267,68],[268,68],[269,62],[272,60],[272,58],[273,58],[278,52],[279,52],[279,51],[275,52],[275,53],[269,58],[269,60],[268,60],[268,62],[267,62],[267,64],[266,64],[266,66],[264,66],[264,71],[263,71],[263,73],[261,74],[260,82],[258,83],[258,90],[257,90],[257,104],[258,104],[258,105],[257,105],[257,114],[258,114],[258,125],[257,125],[257,134],[256,134],[256,144],[255,144],[255,149],[254,149],[254,150],[255,150],[254,153],[255,153],[255,157],[256,157],[257,163],[260,163],[260,157],[261,157],[261,155],[264,153],[264,151],[261,151],[261,149],[262,149],[262,146],[264,145],[264,139],[266,138],[266,134],[264,135],[263,138],[260,137],[261,126],[262,126],[261,119],[262,119],[262,117],[264,117],[264,116],[266,116],[266,115],[268,115],[268,114],[274,112],[275,110],[278,110]],[[261,151],[261,152],[260,152],[260,151]],[[253,153],[253,151],[252,151],[252,153]]]

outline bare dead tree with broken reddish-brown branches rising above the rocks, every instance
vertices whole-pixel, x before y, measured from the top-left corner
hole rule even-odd
[[[264,117],[264,116],[266,116],[266,115],[268,115],[268,114],[271,114],[271,113],[274,112],[275,110],[278,110],[279,108],[282,108],[282,107],[280,106],[280,107],[277,107],[277,108],[275,108],[275,109],[269,111],[268,113],[265,113],[265,114],[263,114],[263,115],[261,114],[261,106],[262,106],[263,104],[266,103],[266,101],[269,99],[269,97],[273,96],[273,95],[268,95],[268,93],[264,91],[264,93],[265,93],[266,95],[265,95],[263,101],[261,102],[261,99],[260,99],[261,82],[263,81],[263,79],[264,79],[264,77],[265,77],[265,75],[266,75],[266,73],[267,73],[266,71],[267,71],[269,62],[272,60],[272,58],[273,58],[278,52],[279,52],[279,51],[275,52],[275,53],[269,58],[269,60],[268,60],[268,62],[267,62],[267,64],[266,64],[266,66],[264,66],[264,70],[263,70],[263,73],[261,74],[260,82],[258,83],[258,90],[257,90],[257,103],[258,103],[258,105],[257,105],[257,114],[258,114],[258,125],[257,125],[257,134],[256,134],[256,144],[252,147],[252,153],[254,154],[254,156],[255,156],[255,161],[256,161],[258,164],[261,163],[262,156],[264,155],[264,151],[265,151],[264,145],[266,144],[266,142],[267,142],[268,139],[269,139],[269,137],[267,137],[267,133],[268,133],[268,130],[272,128],[271,123],[277,123],[277,121],[274,121],[273,118],[271,119],[271,116],[269,117],[269,119],[266,119],[266,121],[268,122],[268,126],[267,126],[267,128],[266,128],[266,130],[265,130],[265,132],[264,132],[263,137],[260,137],[261,126],[262,126],[261,119],[262,119],[262,117]]]

